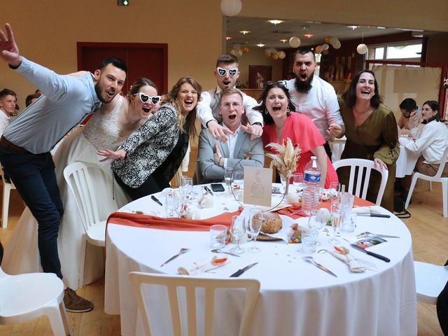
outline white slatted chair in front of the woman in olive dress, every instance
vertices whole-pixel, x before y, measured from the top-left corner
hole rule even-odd
[[[333,167],[335,169],[339,169],[340,167],[350,167],[350,177],[349,177],[349,186],[347,186],[347,192],[355,195],[357,197],[363,198],[367,196],[367,189],[369,186],[370,180],[370,172],[372,169],[376,170],[381,174],[381,184],[379,185],[377,201],[375,204],[380,205],[381,200],[383,199],[384,189],[386,188],[387,178],[388,178],[388,170],[386,169],[377,169],[372,160],[365,159],[342,159],[333,162]],[[356,178],[356,190],[353,193],[354,179],[355,174],[358,174]],[[362,193],[361,193],[362,189]]]

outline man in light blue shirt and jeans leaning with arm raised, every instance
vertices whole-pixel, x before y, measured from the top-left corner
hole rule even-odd
[[[20,55],[9,24],[6,34],[0,29],[0,57],[43,92],[43,97],[6,127],[0,138],[0,161],[38,222],[43,272],[62,279],[57,233],[64,209],[50,150],[101,103],[111,102],[121,92],[127,66],[120,59],[108,57],[94,74],[83,71],[76,76],[58,75]],[[72,312],[93,309],[92,302],[71,288],[64,290],[64,304]]]

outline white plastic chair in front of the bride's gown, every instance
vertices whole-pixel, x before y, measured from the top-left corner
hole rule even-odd
[[[73,162],[64,169],[64,178],[76,201],[76,207],[83,223],[85,236],[81,244],[79,279],[84,279],[85,248],[87,241],[95,246],[104,246],[106,221],[99,220],[98,207],[89,171],[97,170],[105,181],[108,179],[102,169],[90,162]]]

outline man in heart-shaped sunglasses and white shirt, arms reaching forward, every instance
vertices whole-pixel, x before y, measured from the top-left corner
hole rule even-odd
[[[238,59],[232,54],[223,54],[216,60],[216,69],[214,71],[218,87],[213,90],[202,92],[201,101],[197,103],[197,118],[201,120],[202,125],[208,128],[214,139],[227,141],[225,134],[232,134],[228,128],[221,126],[222,118],[219,116],[219,99],[221,92],[225,89],[232,89],[237,83],[239,77]],[[247,94],[243,94],[243,107],[246,113],[250,127],[248,132],[251,138],[261,137],[263,132],[263,118],[261,113],[253,110],[258,105],[257,101]],[[243,124],[246,120],[243,120]]]

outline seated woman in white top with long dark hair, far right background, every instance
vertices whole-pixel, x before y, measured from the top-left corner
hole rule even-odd
[[[434,176],[440,166],[442,155],[448,146],[448,128],[440,118],[439,103],[430,100],[423,103],[422,116],[426,120],[426,126],[419,131],[419,120],[417,116],[409,118],[409,127],[411,127],[411,137],[415,141],[400,138],[400,144],[407,151],[420,153],[421,156],[415,165],[415,170],[421,174]],[[445,165],[442,176],[448,176],[448,165]],[[402,186],[405,189],[404,195],[407,197],[411,176],[407,175],[402,180]]]

